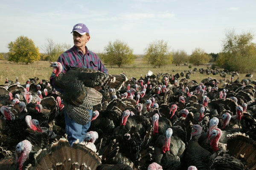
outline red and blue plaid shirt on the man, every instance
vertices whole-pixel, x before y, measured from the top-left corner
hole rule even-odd
[[[108,74],[108,69],[102,64],[98,56],[88,50],[87,46],[85,46],[86,53],[83,55],[81,51],[79,51],[76,46],[73,46],[71,49],[67,50],[66,52],[62,53],[57,61],[60,62],[63,66],[63,71],[66,72],[69,69],[73,69],[76,67],[83,67],[89,69],[96,69],[101,72]],[[54,73],[52,73],[50,77],[50,82],[52,86],[59,92],[62,92],[61,89],[57,88],[54,84],[52,79],[55,77]]]

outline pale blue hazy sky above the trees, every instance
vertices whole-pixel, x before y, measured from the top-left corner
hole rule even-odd
[[[0,0],[0,52],[20,36],[41,53],[49,39],[73,46],[70,32],[84,23],[96,53],[116,40],[135,55],[158,40],[189,55],[196,48],[218,53],[228,30],[256,35],[255,8],[256,0]]]

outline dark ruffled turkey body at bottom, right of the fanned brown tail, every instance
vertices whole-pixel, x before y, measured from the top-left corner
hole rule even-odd
[[[132,134],[119,134],[112,137],[110,144],[101,149],[99,153],[102,153],[102,164],[125,164],[133,170],[146,169],[151,163],[154,152],[154,148],[147,142],[151,132],[147,132],[147,137],[144,139],[140,138],[137,132],[133,130],[130,132]]]

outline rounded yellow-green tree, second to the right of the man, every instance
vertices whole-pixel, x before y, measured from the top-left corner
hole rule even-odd
[[[149,43],[144,49],[144,61],[160,68],[163,65],[172,63],[172,54],[169,52],[167,42],[158,40],[157,42]]]

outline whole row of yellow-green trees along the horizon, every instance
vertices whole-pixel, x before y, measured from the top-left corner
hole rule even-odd
[[[185,50],[177,50],[172,52],[171,46],[164,40],[151,42],[144,49],[144,62],[155,67],[161,67],[168,64],[176,64],[180,66],[184,63],[201,65],[205,63],[215,63],[223,69],[238,72],[253,72],[256,70],[256,44],[253,43],[255,35],[251,32],[242,32],[236,34],[235,30],[227,30],[222,40],[222,51],[218,54],[207,54],[201,48],[196,48],[188,55]],[[47,39],[44,45],[44,54],[39,53],[38,47],[34,42],[25,36],[17,37],[14,42],[8,44],[9,52],[8,61],[33,63],[38,60],[56,61],[62,52],[70,49],[67,44],[55,44],[53,40]],[[97,54],[104,63],[111,66],[134,63],[136,56],[133,54],[128,44],[121,40],[109,42],[105,46],[104,52]],[[2,60],[3,54],[0,54]]]

